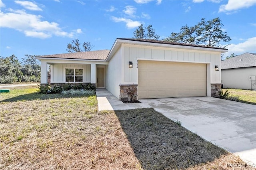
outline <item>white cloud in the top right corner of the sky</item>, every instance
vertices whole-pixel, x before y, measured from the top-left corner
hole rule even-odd
[[[228,0],[228,4],[221,5],[219,12],[236,11],[242,8],[249,8],[256,4],[256,0]]]

